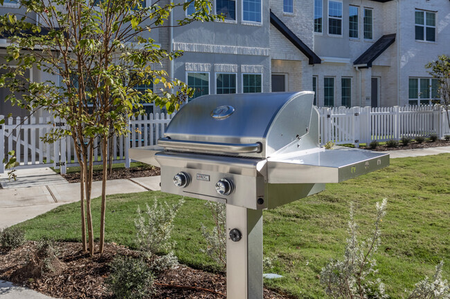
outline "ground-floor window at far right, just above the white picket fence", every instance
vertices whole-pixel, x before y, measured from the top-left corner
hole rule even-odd
[[[429,105],[439,104],[438,79],[409,78],[409,104]]]

